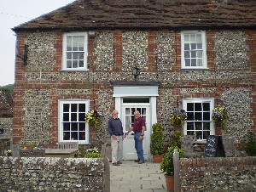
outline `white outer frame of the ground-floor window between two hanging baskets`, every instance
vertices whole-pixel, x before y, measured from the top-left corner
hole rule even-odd
[[[215,129],[214,129],[214,125],[212,122],[212,110],[214,107],[214,99],[201,99],[201,98],[183,99],[183,110],[185,110],[186,112],[188,111],[187,110],[188,103],[209,103],[210,104],[210,135],[214,135]],[[185,121],[184,126],[183,126],[183,134],[187,135],[187,121]]]

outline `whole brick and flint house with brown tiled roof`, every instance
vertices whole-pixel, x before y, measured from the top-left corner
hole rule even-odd
[[[78,0],[13,31],[25,56],[15,60],[14,143],[100,146],[113,109],[125,130],[141,111],[146,159],[152,124],[168,145],[175,109],[189,111],[184,134],[214,135],[216,106],[238,143],[256,133],[255,1]],[[84,121],[93,109],[104,114],[99,131]],[[123,158],[134,152],[125,138]]]

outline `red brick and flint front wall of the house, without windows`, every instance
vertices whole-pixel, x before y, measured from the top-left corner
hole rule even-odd
[[[55,146],[58,99],[90,99],[90,106],[95,100],[96,110],[104,114],[94,135],[100,145],[114,108],[110,82],[133,82],[135,65],[142,69],[138,82],[161,82],[157,119],[165,129],[166,145],[172,133],[172,110],[186,98],[213,98],[215,104],[229,106],[231,121],[225,133],[243,142],[247,131],[256,133],[254,42],[253,30],[207,31],[208,69],[192,71],[180,69],[179,31],[96,31],[89,36],[90,70],[70,72],[61,71],[61,31],[20,32],[19,53],[26,43],[29,54],[26,66],[16,59],[14,142]]]

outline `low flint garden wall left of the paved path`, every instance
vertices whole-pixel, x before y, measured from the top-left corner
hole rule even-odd
[[[109,191],[102,159],[0,157],[0,191]]]

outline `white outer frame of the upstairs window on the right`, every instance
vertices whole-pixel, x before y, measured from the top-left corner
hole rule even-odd
[[[196,66],[186,66],[185,65],[185,35],[201,35],[201,43],[202,48],[201,49],[194,49],[194,50],[202,50],[202,55],[200,58],[202,58],[202,64],[201,66],[198,65],[196,61]],[[191,51],[191,46],[189,46],[189,50]],[[192,56],[191,56],[192,57]],[[199,57],[196,55],[194,59],[199,59]],[[207,36],[206,31],[181,31],[181,69],[207,69]]]

